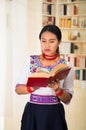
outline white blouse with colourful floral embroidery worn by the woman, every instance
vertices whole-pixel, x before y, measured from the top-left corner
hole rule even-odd
[[[37,55],[28,56],[28,59],[25,62],[23,69],[17,80],[16,87],[18,87],[19,84],[26,85],[28,77],[30,76],[31,73],[36,72],[36,69],[38,67],[45,68],[48,71],[51,71],[53,69],[53,67],[55,67],[59,63],[69,64],[68,61],[66,61],[65,59],[62,58],[60,61],[57,61],[57,63],[54,64],[53,66],[43,67],[42,64],[40,63]],[[67,77],[64,80],[60,81],[60,86],[65,91],[68,91],[71,95],[73,95],[73,93],[74,93],[74,90],[73,90],[74,70],[73,70],[72,66],[71,66],[71,70],[70,70],[69,74],[67,75]],[[55,95],[55,92],[52,90],[52,88],[50,88],[48,86],[47,87],[42,86],[39,89],[35,90],[33,93],[38,94],[38,95]]]

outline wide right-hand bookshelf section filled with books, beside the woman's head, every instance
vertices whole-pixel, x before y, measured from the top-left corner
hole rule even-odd
[[[86,84],[86,0],[57,0],[60,53],[74,67],[75,86]]]

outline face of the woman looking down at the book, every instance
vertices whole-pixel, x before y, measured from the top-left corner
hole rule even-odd
[[[60,43],[56,35],[48,31],[42,33],[40,42],[42,52],[46,55],[56,54],[56,50]]]

